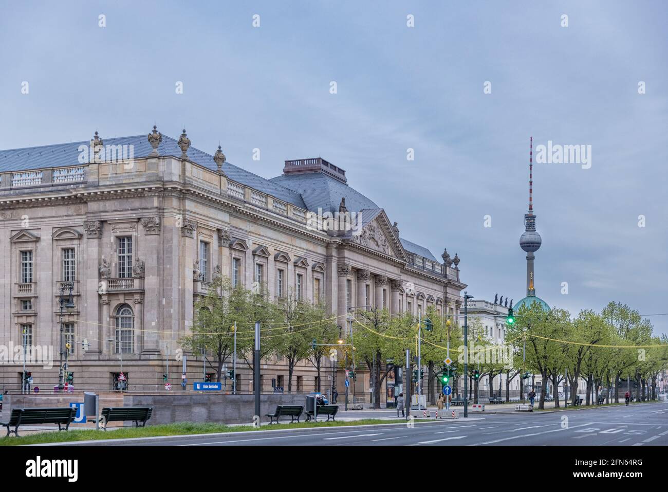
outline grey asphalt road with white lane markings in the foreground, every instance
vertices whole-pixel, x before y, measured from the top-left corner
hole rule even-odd
[[[438,423],[314,428],[160,439],[88,441],[88,445],[180,446],[667,446],[668,404],[634,404],[566,412],[470,413]],[[75,444],[75,443],[71,443]]]

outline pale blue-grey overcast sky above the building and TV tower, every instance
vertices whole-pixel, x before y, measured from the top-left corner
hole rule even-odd
[[[591,146],[534,165],[536,295],[668,313],[667,18],[661,0],[0,1],[0,148],[156,123],[266,178],[321,156],[402,237],[458,253],[476,299],[517,301],[529,138]]]

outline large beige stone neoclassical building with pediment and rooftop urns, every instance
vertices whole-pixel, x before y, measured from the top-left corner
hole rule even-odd
[[[355,217],[353,229],[319,226],[318,214],[339,211]],[[112,388],[122,359],[138,391],[164,391],[167,364],[176,390],[178,339],[216,275],[261,281],[279,297],[324,298],[341,326],[350,307],[458,313],[465,287],[457,256],[440,262],[399,237],[338,166],[287,160],[265,179],[226,162],[220,146],[214,155],[190,146],[185,130],[178,140],[154,127],[148,138],[103,142],[96,132],[90,142],[0,151],[0,227],[0,344],[53,346],[53,368],[28,367],[45,390],[58,382],[59,294],[69,285],[73,307],[62,319],[75,388]],[[281,360],[262,367],[263,389],[287,377]],[[21,364],[0,370],[17,390]],[[202,360],[189,360],[188,381],[201,374]],[[243,364],[237,376],[238,390],[251,390]],[[311,364],[295,377],[293,388],[313,390]],[[356,389],[368,384],[359,378]]]

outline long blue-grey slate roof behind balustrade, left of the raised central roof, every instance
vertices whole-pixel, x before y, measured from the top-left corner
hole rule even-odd
[[[142,158],[148,156],[153,150],[148,143],[146,135],[125,136],[120,138],[104,138],[104,145],[132,145],[134,156]],[[37,168],[76,166],[79,164],[79,146],[90,145],[90,140],[83,142],[71,142],[69,144],[45,145],[40,147],[15,148],[11,150],[0,150],[0,172],[21,171]],[[180,156],[181,149],[178,140],[162,135],[162,142],[158,146],[161,156]],[[202,152],[195,147],[188,148],[188,158],[200,166],[217,170],[218,167],[213,156]],[[272,195],[279,200],[291,203],[296,207],[305,209],[306,205],[299,193],[287,189],[279,183],[272,182],[253,172],[248,172],[230,162],[222,164],[222,170],[227,176],[237,182],[245,184],[258,191]]]

